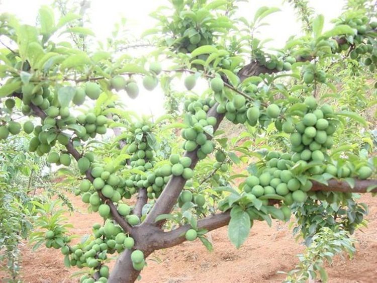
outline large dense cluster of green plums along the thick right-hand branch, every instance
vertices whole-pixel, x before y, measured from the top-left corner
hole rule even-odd
[[[309,178],[315,179],[316,175],[324,172],[337,178],[356,176],[360,179],[372,173],[372,169],[366,165],[359,167],[356,172],[352,172],[349,162],[338,167],[334,165],[327,155],[334,144],[333,134],[339,123],[333,109],[327,104],[319,108],[313,97],[307,97],[303,105],[305,107],[296,123],[293,117],[288,117],[283,123],[275,123],[279,131],[290,134],[292,153],[268,152],[264,169],[247,177],[243,185],[245,193],[256,198],[265,196],[262,198],[264,204],[268,204],[268,195],[273,199],[272,195],[275,194],[284,197],[286,205],[305,202],[307,192],[312,187]],[[270,113],[269,116],[276,115]],[[302,168],[299,173],[291,170],[298,166]]]

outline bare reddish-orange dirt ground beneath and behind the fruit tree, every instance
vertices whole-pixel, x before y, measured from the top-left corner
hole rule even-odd
[[[69,196],[78,209],[71,215],[73,234],[90,233],[91,225],[101,222],[98,214],[88,214],[79,198]],[[326,270],[329,282],[377,281],[377,198],[365,195],[361,199],[369,206],[368,228],[357,231],[357,253],[352,260],[337,257]],[[247,241],[237,250],[227,238],[223,227],[209,234],[214,251],[208,252],[199,240],[185,242],[166,250],[159,250],[148,258],[148,266],[141,272],[140,282],[280,282],[285,278],[278,271],[289,271],[298,262],[296,254],[304,250],[296,242],[288,224],[255,222]],[[64,267],[59,250],[44,246],[32,252],[22,248],[22,280],[24,282],[77,282],[74,271]],[[0,272],[0,281],[4,273]]]

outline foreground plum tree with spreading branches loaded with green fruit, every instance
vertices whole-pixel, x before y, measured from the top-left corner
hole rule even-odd
[[[359,77],[371,78],[377,64],[377,25],[365,16],[366,2],[350,3],[326,32],[323,16],[313,16],[305,36],[274,54],[255,34],[274,8],[260,8],[248,23],[235,16],[237,1],[171,4],[172,15],[154,14],[160,24],[151,41],[158,48],[149,54],[166,59],[166,70],[148,56],[111,55],[117,46],[85,52],[53,42],[57,31],[91,33],[72,27],[74,15],[55,23],[54,11],[42,7],[38,27],[0,15],[13,44],[0,50],[0,139],[20,133],[17,116],[29,117],[29,151],[77,167],[80,184],[72,191],[104,219],[79,244],[59,227],[40,237],[61,249],[66,265],[87,268],[81,282],[133,282],[153,251],[197,238],[211,249],[206,233],[226,225],[238,248],[254,221],[289,221],[291,213],[305,239],[323,226],[352,233],[366,213],[355,194],[376,192],[372,142],[356,130],[368,124],[352,111],[367,106],[357,87],[372,86]],[[170,81],[182,73],[187,90],[199,77],[208,81],[202,96],[174,95]],[[120,91],[135,99],[141,77],[149,91],[161,82],[173,115],[152,121],[124,109]],[[348,87],[339,90],[339,81]],[[355,91],[364,104],[355,102]],[[81,105],[88,107],[77,114]],[[219,130],[225,120],[242,128],[236,142]],[[109,128],[113,141],[99,142]],[[173,140],[166,131],[181,136]],[[237,174],[233,164],[247,168]],[[329,215],[342,217],[326,222]]]

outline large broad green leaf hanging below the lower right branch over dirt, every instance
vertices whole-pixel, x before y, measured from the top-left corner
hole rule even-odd
[[[251,223],[248,213],[243,211],[239,206],[233,207],[230,211],[228,237],[236,248],[239,248],[247,239],[250,228]]]

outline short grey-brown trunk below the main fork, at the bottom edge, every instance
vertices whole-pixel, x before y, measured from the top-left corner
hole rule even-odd
[[[139,276],[140,271],[135,270],[132,266],[131,253],[133,250],[125,250],[122,252],[110,273],[109,283],[133,283]],[[145,258],[147,255],[145,254]]]

